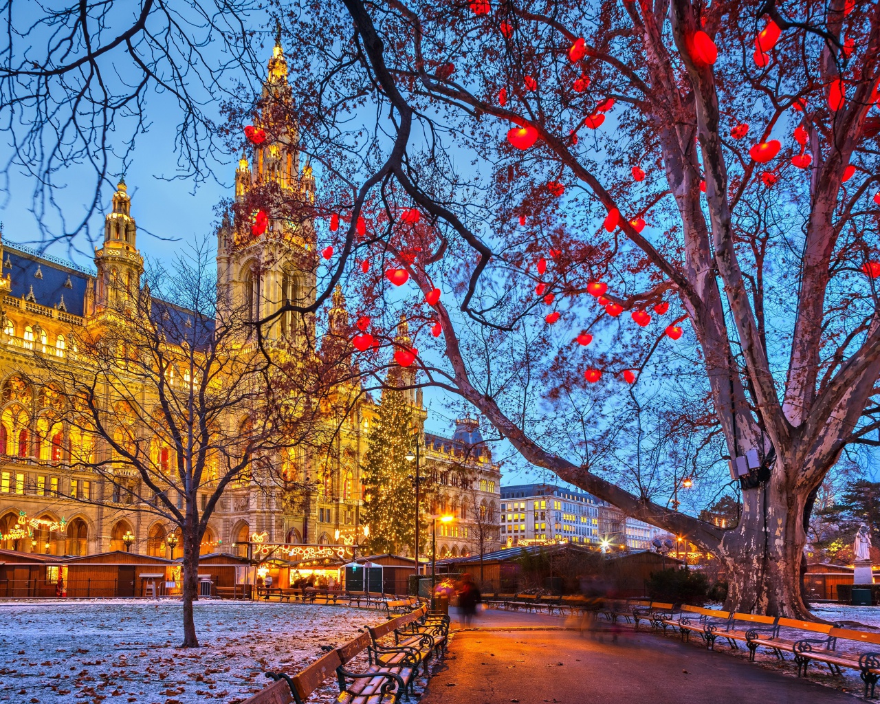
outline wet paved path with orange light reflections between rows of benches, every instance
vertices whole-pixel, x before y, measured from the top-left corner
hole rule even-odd
[[[454,618],[454,617],[453,617]],[[649,633],[549,630],[487,612],[455,634],[420,704],[854,704],[847,693]],[[553,621],[563,625],[564,620]],[[551,623],[552,623],[551,622]]]

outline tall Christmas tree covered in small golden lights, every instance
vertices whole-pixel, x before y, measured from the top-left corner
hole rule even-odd
[[[404,393],[385,389],[361,467],[363,522],[370,526],[367,549],[371,554],[413,554],[415,490],[410,475],[415,466],[407,454],[414,451],[415,433]],[[420,518],[423,545],[426,522]]]

